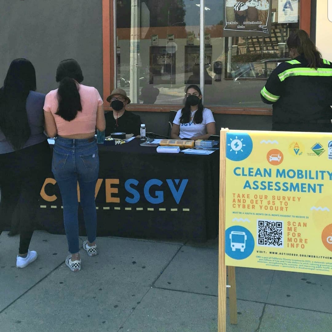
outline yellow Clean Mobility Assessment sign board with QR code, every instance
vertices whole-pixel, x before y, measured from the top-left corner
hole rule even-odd
[[[225,262],[332,275],[332,134],[226,133]]]

